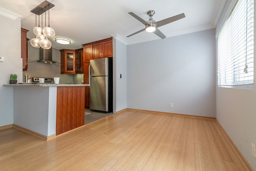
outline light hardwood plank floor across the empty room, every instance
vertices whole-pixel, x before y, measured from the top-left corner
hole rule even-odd
[[[125,111],[48,142],[0,130],[1,171],[247,171],[214,119]]]

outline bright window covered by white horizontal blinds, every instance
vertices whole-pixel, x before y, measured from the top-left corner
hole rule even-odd
[[[218,85],[253,84],[253,0],[238,0],[218,36]]]

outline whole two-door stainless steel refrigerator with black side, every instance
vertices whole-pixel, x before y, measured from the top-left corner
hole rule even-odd
[[[90,60],[90,110],[113,112],[113,61],[112,58]]]

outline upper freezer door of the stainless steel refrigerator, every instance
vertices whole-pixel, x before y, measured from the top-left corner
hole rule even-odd
[[[108,75],[108,58],[90,60],[90,76]]]

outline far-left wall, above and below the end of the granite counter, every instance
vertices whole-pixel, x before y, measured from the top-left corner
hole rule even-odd
[[[9,84],[12,73],[22,81],[22,59],[20,58],[20,18],[12,20],[0,15],[0,126],[13,124],[13,89],[3,87]]]

